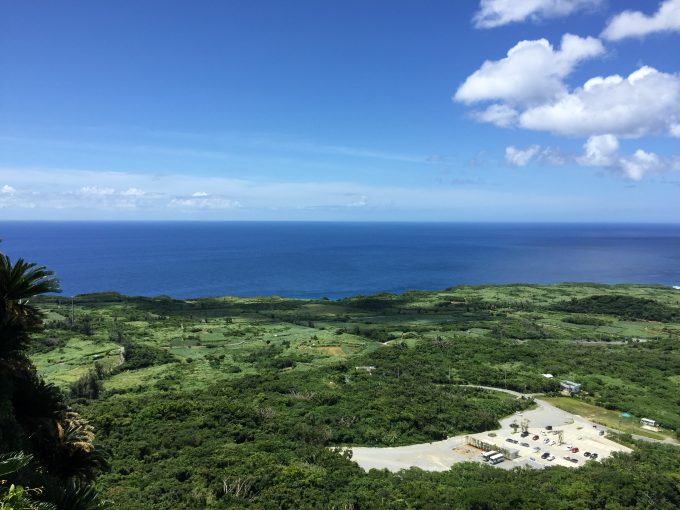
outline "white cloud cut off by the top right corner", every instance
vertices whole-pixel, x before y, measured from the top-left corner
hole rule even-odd
[[[614,16],[602,32],[609,41],[644,37],[655,32],[680,32],[680,0],[666,0],[651,16],[640,11],[624,11]]]

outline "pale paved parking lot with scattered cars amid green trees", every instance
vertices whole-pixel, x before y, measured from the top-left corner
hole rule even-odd
[[[502,469],[519,466],[543,468],[554,465],[574,468],[583,466],[585,462],[591,460],[585,456],[586,452],[597,454],[595,460],[597,462],[609,457],[613,452],[631,451],[601,435],[601,432],[604,433],[602,427],[585,418],[562,411],[542,400],[536,400],[536,404],[535,409],[501,420],[501,427],[498,430],[395,448],[354,447],[352,459],[367,470],[376,468],[399,471],[419,467],[428,471],[445,471],[458,462],[483,462],[483,450],[468,444],[470,439],[493,445],[493,449],[517,450],[517,458],[495,464],[495,467]],[[528,434],[522,437],[521,424],[525,420],[528,422]],[[512,427],[513,423],[518,425],[517,431]],[[552,427],[552,431],[547,430],[547,427]],[[559,430],[562,431],[562,444],[559,444],[557,433]],[[578,448],[578,451],[573,452],[573,448]],[[554,457],[553,460],[541,458],[544,454],[547,454],[548,458]],[[575,459],[576,462],[564,457]]]

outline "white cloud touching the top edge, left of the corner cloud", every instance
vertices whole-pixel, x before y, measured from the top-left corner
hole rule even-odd
[[[601,0],[481,0],[473,22],[477,28],[493,28],[526,19],[559,18],[601,3]]]

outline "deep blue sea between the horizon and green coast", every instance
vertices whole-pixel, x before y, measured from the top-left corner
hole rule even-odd
[[[65,295],[331,299],[458,284],[680,285],[680,225],[0,222]]]

